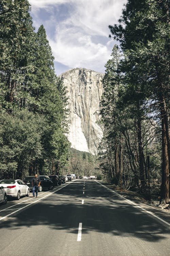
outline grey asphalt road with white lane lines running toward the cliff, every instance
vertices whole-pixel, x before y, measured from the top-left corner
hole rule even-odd
[[[75,180],[1,205],[0,255],[170,256],[170,218]]]

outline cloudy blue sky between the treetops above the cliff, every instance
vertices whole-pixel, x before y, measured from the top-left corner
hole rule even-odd
[[[108,25],[117,24],[126,0],[29,0],[33,25],[44,25],[57,75],[72,68],[105,71],[116,41]]]

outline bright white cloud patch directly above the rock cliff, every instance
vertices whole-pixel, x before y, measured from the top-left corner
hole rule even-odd
[[[101,71],[103,63],[110,56],[105,45],[92,42],[90,35],[84,35],[74,28],[58,30],[56,38],[49,42],[55,60],[70,68],[84,67]]]

